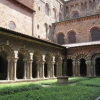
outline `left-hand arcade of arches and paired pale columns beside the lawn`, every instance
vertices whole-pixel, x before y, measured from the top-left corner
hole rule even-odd
[[[8,45],[0,47],[0,80],[54,78],[62,75],[62,58],[27,49],[13,51]]]

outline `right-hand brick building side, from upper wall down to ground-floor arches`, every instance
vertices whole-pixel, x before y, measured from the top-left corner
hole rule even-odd
[[[66,20],[55,23],[55,42],[67,48],[68,76],[100,76],[100,0],[66,2]]]

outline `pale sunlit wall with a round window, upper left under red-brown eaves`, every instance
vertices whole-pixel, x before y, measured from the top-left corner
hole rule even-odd
[[[0,0],[0,27],[32,36],[32,12],[15,1]]]

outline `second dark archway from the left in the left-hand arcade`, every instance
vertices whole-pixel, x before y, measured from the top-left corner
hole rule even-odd
[[[17,79],[23,79],[24,78],[24,61],[23,61],[23,55],[19,54],[19,59],[17,61]]]

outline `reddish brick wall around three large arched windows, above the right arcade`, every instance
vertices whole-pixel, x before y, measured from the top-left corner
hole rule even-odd
[[[68,44],[68,34],[75,32],[76,43],[89,42],[91,40],[91,29],[94,27],[100,28],[100,15],[83,17],[80,19],[55,23],[55,42],[59,33],[64,34],[65,44]]]

